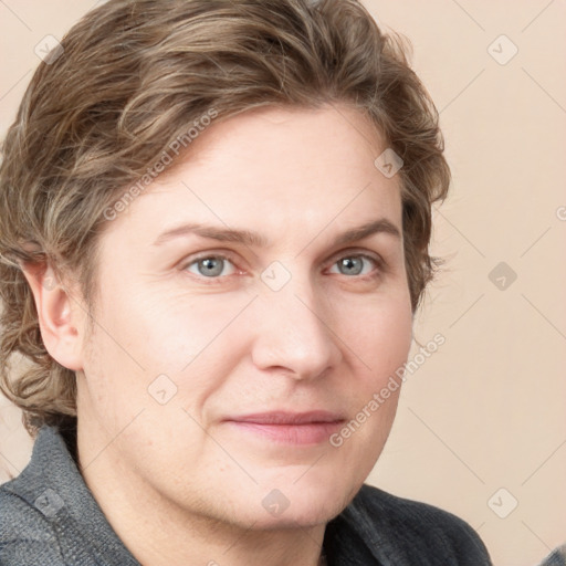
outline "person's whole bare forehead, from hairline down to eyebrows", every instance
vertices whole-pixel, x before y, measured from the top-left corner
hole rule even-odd
[[[348,106],[248,112],[206,128],[116,224],[147,232],[148,219],[151,230],[190,220],[282,238],[384,216],[399,223],[399,176],[375,166],[384,149],[377,128]]]

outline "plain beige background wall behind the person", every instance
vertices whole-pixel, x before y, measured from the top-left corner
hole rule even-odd
[[[0,1],[2,137],[35,45],[93,6]],[[411,39],[453,170],[434,234],[449,261],[416,325],[446,344],[409,376],[369,482],[460,515],[496,565],[534,565],[566,542],[566,2],[366,6]],[[18,411],[0,411],[0,468],[17,474],[31,442]]]

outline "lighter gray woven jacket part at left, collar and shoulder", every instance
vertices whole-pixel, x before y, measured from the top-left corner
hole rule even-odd
[[[40,429],[30,463],[0,485],[0,566],[137,565],[85,484],[64,434]]]

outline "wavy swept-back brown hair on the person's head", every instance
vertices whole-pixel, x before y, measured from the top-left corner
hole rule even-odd
[[[415,311],[434,268],[431,205],[450,170],[409,49],[356,0],[109,0],[74,25],[33,75],[0,167],[0,387],[28,430],[75,417],[76,389],[43,345],[20,263],[76,274],[93,305],[107,211],[176,140],[190,150],[188,128],[211,109],[217,120],[268,106],[364,113],[403,163]],[[10,379],[13,354],[31,364]]]

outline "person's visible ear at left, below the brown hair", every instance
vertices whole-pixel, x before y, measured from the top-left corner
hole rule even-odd
[[[21,265],[33,293],[46,350],[63,367],[83,369],[84,311],[49,264]]]

